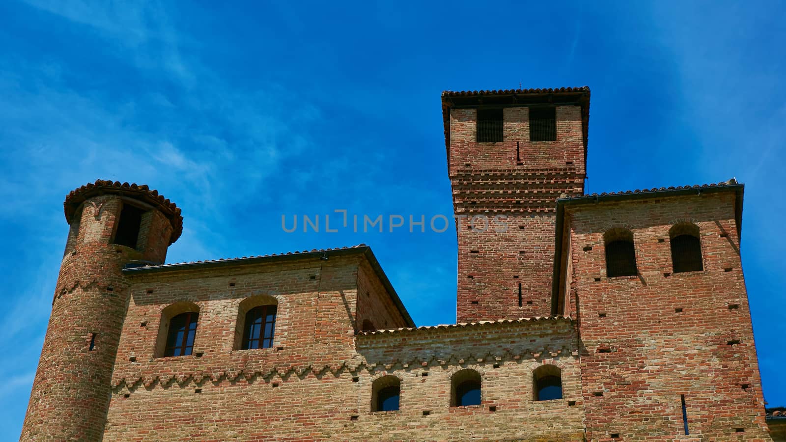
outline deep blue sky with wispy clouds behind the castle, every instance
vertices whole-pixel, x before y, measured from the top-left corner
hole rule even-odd
[[[592,89],[589,192],[746,184],[763,387],[786,405],[782,4],[225,3],[0,3],[3,436],[24,419],[70,190],[160,190],[185,218],[171,262],[369,244],[418,325],[454,322],[452,227],[287,234],[281,215],[450,215],[440,92],[519,84]]]

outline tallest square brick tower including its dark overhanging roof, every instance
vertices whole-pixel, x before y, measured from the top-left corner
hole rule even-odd
[[[556,199],[584,192],[589,88],[444,92],[457,322],[553,313]]]

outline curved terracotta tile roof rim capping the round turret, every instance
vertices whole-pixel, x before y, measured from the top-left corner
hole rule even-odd
[[[157,208],[172,223],[173,230],[169,243],[172,244],[180,238],[180,234],[183,233],[183,217],[180,215],[180,208],[164,198],[163,195],[160,195],[158,190],[150,190],[146,184],[137,185],[136,183],[112,182],[111,180],[105,181],[103,179],[87,183],[79,187],[79,189],[72,190],[71,193],[68,193],[68,197],[65,197],[63,202],[65,220],[71,223],[76,210],[84,201],[98,195],[112,193],[122,194],[124,197],[130,197]]]

